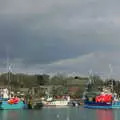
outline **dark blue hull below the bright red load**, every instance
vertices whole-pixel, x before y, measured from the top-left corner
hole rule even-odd
[[[116,109],[120,108],[120,101],[113,103],[85,102],[84,107],[91,109]]]

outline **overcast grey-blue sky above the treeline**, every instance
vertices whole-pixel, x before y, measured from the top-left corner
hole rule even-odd
[[[120,78],[119,0],[0,0],[0,71]]]

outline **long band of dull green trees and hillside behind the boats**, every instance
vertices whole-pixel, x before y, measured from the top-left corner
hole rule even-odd
[[[0,86],[11,86],[14,89],[32,88],[37,86],[52,86],[52,95],[71,94],[82,97],[84,91],[101,91],[103,86],[111,87],[120,95],[120,82],[113,79],[102,80],[99,76],[71,77],[62,74],[49,76],[47,74],[14,74],[4,73],[0,75]]]

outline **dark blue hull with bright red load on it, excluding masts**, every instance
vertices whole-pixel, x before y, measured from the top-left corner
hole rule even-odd
[[[85,108],[92,109],[113,109],[120,108],[120,101],[113,94],[100,94],[93,99],[84,100]]]

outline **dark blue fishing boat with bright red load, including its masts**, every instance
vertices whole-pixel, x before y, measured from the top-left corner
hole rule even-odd
[[[110,71],[112,72],[111,65],[109,66]],[[90,85],[93,88],[94,80],[91,79],[92,75],[89,76],[88,86]],[[87,90],[86,90],[87,91]],[[110,86],[102,86],[101,91],[87,91],[84,92],[84,107],[92,109],[113,109],[120,108],[120,99],[115,93],[113,88],[113,80],[111,80]]]

